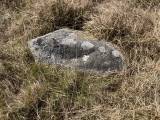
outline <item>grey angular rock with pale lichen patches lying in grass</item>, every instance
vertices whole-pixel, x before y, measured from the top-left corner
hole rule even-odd
[[[85,38],[79,31],[60,29],[28,44],[37,62],[98,73],[123,69],[123,56],[112,44]]]

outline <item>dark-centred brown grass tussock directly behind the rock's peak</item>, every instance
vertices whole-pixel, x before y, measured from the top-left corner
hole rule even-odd
[[[91,9],[91,4],[88,0],[58,0],[50,8],[46,9],[47,7],[39,12],[38,24],[42,26],[41,34],[63,27],[82,29],[84,22],[87,20],[87,12]]]

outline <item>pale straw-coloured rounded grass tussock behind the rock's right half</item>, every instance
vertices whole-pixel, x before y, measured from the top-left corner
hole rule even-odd
[[[97,14],[84,28],[97,37],[112,40],[115,37],[141,37],[154,29],[155,18],[147,11],[117,1],[105,2],[95,8]],[[98,25],[98,26],[97,26]]]

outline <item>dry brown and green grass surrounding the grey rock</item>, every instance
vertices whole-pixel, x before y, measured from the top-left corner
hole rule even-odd
[[[160,119],[160,12],[154,0],[2,0],[0,119]],[[125,56],[109,76],[38,64],[27,41],[60,28],[89,32]]]

